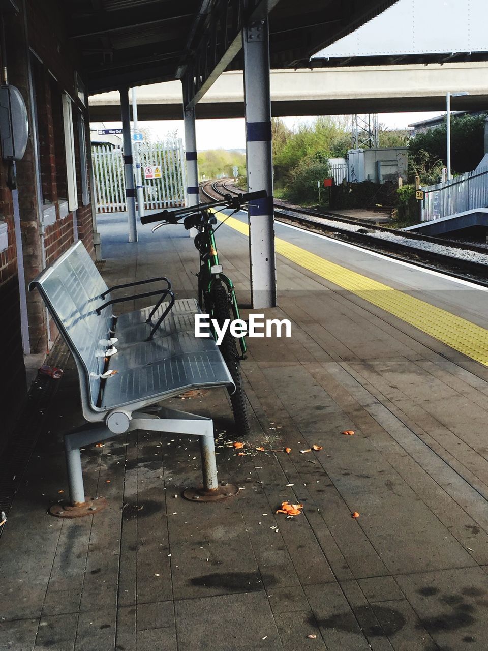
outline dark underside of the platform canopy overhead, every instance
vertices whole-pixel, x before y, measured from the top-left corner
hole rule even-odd
[[[396,0],[58,0],[88,92],[183,79],[195,105],[241,70],[242,29],[269,16],[271,67],[296,68]]]

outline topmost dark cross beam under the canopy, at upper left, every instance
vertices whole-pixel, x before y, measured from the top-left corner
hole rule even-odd
[[[183,5],[183,7],[182,7]],[[116,12],[102,12],[81,18],[74,22],[70,38],[84,38],[97,34],[107,34],[123,29],[137,29],[144,25],[154,25],[157,22],[174,20],[175,18],[190,18],[197,9],[197,0],[189,0],[185,3],[164,2],[150,10],[124,9]]]

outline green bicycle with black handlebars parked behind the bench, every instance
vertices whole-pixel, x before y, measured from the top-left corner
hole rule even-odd
[[[240,319],[241,317],[239,314],[239,305],[237,305],[234,283],[223,272],[223,266],[219,262],[217,245],[215,244],[215,231],[221,227],[223,222],[214,229],[213,227],[217,224],[217,217],[215,217],[215,214],[211,210],[215,208],[230,208],[233,210],[232,215],[247,204],[247,202],[254,199],[264,199],[266,196],[267,193],[265,190],[243,193],[238,196],[228,194],[224,195],[223,199],[219,201],[197,204],[195,206],[188,206],[187,208],[179,208],[178,210],[163,210],[154,215],[144,215],[141,217],[142,224],[163,220],[153,227],[153,232],[167,224],[181,223],[181,219],[183,219],[183,225],[186,230],[198,230],[198,234],[194,240],[195,247],[200,256],[200,270],[197,273],[198,304],[203,312],[210,314],[211,320],[215,319],[219,328],[223,326],[227,319],[230,319],[231,311],[234,319]],[[211,326],[211,333],[214,339],[217,340],[217,334],[213,326]],[[241,350],[241,354],[239,355],[236,339],[232,336],[230,330],[226,329],[219,348],[230,371],[232,380],[234,380],[234,384],[236,385],[234,393],[230,393],[230,391],[229,393],[238,434],[247,436],[250,428],[241,373],[241,360],[246,359],[245,353],[247,347],[245,337],[239,337],[239,348]]]

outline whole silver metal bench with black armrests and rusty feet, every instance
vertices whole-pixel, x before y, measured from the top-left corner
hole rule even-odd
[[[114,298],[117,290],[148,283],[164,286]],[[72,518],[100,511],[103,499],[85,497],[80,447],[137,429],[200,436],[203,489],[187,490],[185,497],[214,501],[235,494],[234,486],[217,482],[213,421],[155,407],[191,389],[234,387],[215,341],[193,334],[197,301],[175,300],[166,278],[107,287],[81,242],[42,271],[29,285],[34,288],[74,357],[88,421],[64,436],[70,505],[53,505],[51,513]],[[156,295],[156,305],[113,314],[115,303]]]

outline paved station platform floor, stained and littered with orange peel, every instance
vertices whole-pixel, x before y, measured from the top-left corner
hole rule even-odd
[[[120,217],[99,226],[109,285],[169,275],[176,298],[195,296],[182,227],[139,227],[129,244]],[[265,314],[290,319],[291,338],[249,340],[252,436],[232,447],[224,391],[183,396],[212,415],[236,498],[182,499],[196,437],[140,431],[83,454],[102,513],[48,516],[66,490],[62,434],[83,421],[57,347],[64,376],[33,387],[38,441],[0,538],[0,646],[486,649],[487,290],[290,226],[276,237],[279,307]],[[245,305],[245,215],[216,238]],[[302,513],[276,514],[283,501]]]

